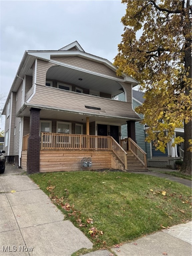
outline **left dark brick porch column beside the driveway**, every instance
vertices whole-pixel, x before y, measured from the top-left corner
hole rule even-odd
[[[27,173],[39,172],[40,162],[40,136],[39,136],[39,108],[30,109],[29,138],[27,146]]]

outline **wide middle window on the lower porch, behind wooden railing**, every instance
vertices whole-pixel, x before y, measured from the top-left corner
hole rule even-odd
[[[71,134],[71,123],[57,122],[57,133]],[[69,136],[58,135],[58,143],[69,143]]]

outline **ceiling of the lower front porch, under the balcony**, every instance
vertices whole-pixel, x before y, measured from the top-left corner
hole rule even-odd
[[[26,107],[19,115],[30,117],[30,107]],[[87,114],[69,113],[58,110],[41,109],[40,119],[46,120],[63,120],[63,121],[74,121],[80,123],[86,123],[86,117],[89,117],[89,122],[107,122],[107,123],[118,123],[125,124],[129,118],[114,118],[114,117],[100,117]]]

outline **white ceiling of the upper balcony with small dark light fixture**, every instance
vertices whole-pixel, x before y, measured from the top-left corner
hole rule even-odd
[[[79,78],[82,80],[79,80]],[[123,82],[122,78],[117,77],[117,79],[122,80]],[[53,66],[49,68],[46,73],[46,80],[65,81],[66,83],[74,84],[77,87],[79,86],[85,89],[108,93],[112,96],[122,92],[122,85],[112,78],[107,78],[103,77],[102,75],[95,75],[63,66]]]

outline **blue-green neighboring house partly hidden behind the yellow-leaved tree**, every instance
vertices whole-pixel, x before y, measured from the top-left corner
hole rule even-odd
[[[132,90],[132,106],[135,110],[136,107],[140,106],[144,102],[144,92],[139,92],[136,90]],[[125,100],[124,93],[121,93],[114,97],[116,100]],[[143,115],[139,114],[140,118],[143,119]],[[155,150],[155,146],[153,146],[153,142],[151,143],[145,142],[145,137],[147,136],[147,125],[143,125],[140,122],[135,123],[135,132],[136,132],[136,142],[139,147],[141,147],[147,153],[147,166],[148,167],[169,167],[174,169],[174,162],[179,159],[179,146],[171,147],[171,143],[167,144],[167,148],[165,149],[165,154],[160,150]],[[166,133],[166,132],[165,132]],[[127,138],[127,125],[124,124],[121,126],[121,138]],[[184,129],[175,129],[175,136],[184,137]],[[173,138],[174,139],[174,138]],[[183,149],[183,143],[181,143],[180,147]]]

